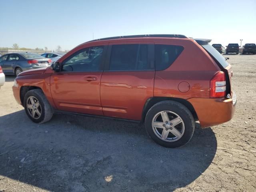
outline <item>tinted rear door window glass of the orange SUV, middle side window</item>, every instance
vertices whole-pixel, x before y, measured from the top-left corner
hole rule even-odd
[[[150,70],[147,44],[112,45],[109,70]]]

